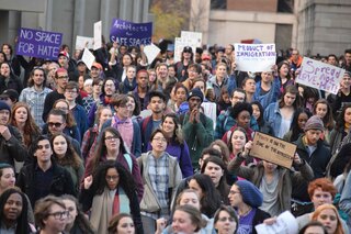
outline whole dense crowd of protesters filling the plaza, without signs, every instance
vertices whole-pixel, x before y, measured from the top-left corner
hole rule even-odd
[[[236,70],[233,45],[63,45],[57,60],[0,52],[0,233],[249,234],[290,211],[299,234],[351,230],[351,49],[337,94],[295,82],[303,57]],[[250,155],[291,142],[292,168]],[[296,233],[297,234],[297,233]]]

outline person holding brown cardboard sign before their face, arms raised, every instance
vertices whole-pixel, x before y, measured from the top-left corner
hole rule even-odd
[[[242,161],[249,156],[252,142],[245,145],[242,153],[239,153],[228,165],[228,171],[250,180],[263,194],[263,203],[260,207],[272,216],[291,209],[291,196],[293,185],[302,181],[310,181],[314,172],[306,160],[295,154],[293,167],[299,171],[290,170],[268,160],[261,160],[253,167],[244,166]]]

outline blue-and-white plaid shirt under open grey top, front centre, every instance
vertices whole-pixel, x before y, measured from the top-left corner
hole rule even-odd
[[[161,212],[158,213],[148,213],[141,212],[141,214],[152,218],[157,220],[159,218],[168,218],[170,210],[169,210],[169,192],[168,192],[168,185],[169,185],[169,158],[167,154],[163,154],[159,158],[155,158],[152,154],[149,154],[148,157],[149,164],[149,177],[151,180],[151,186],[154,189],[155,194],[157,196],[158,201],[161,205]]]

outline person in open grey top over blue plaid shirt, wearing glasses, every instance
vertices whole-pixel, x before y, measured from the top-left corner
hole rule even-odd
[[[144,178],[140,211],[145,233],[155,233],[157,219],[169,219],[170,203],[182,179],[177,158],[166,152],[167,138],[162,130],[155,130],[150,144],[152,151],[137,158]]]

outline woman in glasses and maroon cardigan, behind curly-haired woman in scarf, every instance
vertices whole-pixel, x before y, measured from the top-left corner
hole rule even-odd
[[[92,178],[91,175],[95,171],[101,161],[115,160],[133,175],[138,199],[140,201],[144,193],[144,187],[139,165],[137,164],[136,158],[126,151],[123,138],[116,129],[109,126],[104,129],[100,135],[93,156],[87,160],[84,178]]]

